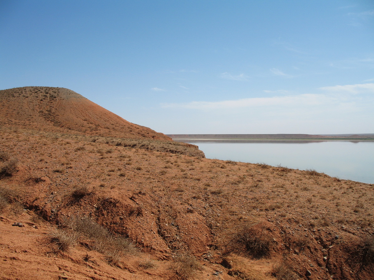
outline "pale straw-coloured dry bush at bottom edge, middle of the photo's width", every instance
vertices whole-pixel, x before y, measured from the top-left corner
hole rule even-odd
[[[177,279],[187,280],[192,278],[197,270],[201,270],[201,265],[191,255],[178,255],[172,262],[170,269],[174,271]]]

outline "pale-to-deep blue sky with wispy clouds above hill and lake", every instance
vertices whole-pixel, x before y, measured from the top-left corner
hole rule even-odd
[[[0,1],[0,89],[165,134],[374,133],[374,2]]]

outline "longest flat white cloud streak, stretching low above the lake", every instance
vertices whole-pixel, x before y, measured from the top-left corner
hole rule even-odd
[[[185,109],[235,109],[262,106],[302,106],[321,105],[330,103],[333,98],[323,94],[300,94],[282,97],[255,97],[238,100],[224,100],[216,102],[193,101],[190,103],[163,103],[163,108]]]

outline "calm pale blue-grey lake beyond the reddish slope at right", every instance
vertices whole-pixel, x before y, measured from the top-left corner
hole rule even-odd
[[[374,183],[374,141],[187,140],[206,158],[315,169],[332,177]]]

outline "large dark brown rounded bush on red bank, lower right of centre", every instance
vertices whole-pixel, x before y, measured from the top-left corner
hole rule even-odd
[[[247,252],[255,258],[263,258],[270,255],[272,249],[272,237],[269,232],[259,224],[245,226],[234,236],[234,243],[245,246]]]

